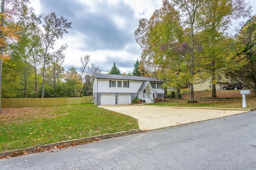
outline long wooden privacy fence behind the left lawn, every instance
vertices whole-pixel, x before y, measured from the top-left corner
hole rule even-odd
[[[1,107],[42,107],[92,103],[92,96],[78,98],[1,98]]]

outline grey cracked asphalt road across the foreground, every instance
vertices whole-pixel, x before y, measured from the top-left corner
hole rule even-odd
[[[2,170],[254,170],[256,111],[0,160]]]

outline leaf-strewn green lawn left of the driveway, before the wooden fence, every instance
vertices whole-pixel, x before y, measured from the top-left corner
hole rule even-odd
[[[0,152],[139,128],[137,119],[94,104],[2,111]]]

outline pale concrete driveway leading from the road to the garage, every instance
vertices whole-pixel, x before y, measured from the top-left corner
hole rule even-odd
[[[160,129],[250,111],[250,109],[165,107],[148,105],[102,105],[99,107],[138,119],[139,128],[141,130]]]

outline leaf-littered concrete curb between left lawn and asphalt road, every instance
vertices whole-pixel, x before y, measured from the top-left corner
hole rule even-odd
[[[14,152],[23,152],[23,151],[30,152],[34,149],[37,149],[38,147],[40,147],[42,149],[46,149],[46,148],[52,148],[53,149],[56,146],[67,145],[67,144],[72,144],[72,143],[79,143],[80,141],[88,141],[88,140],[90,141],[90,140],[95,140],[95,139],[108,139],[108,138],[132,135],[132,134],[135,134],[135,133],[142,133],[142,132],[144,132],[144,131],[140,130],[140,129],[134,129],[134,130],[130,130],[130,131],[122,131],[122,132],[109,133],[109,134],[98,135],[98,136],[93,136],[93,137],[73,139],[73,140],[69,140],[69,141],[62,141],[62,142],[57,142],[57,143],[50,143],[50,144],[40,145],[40,146],[36,146],[36,147],[29,147],[29,148],[25,148],[25,149],[16,149],[16,150],[0,152],[0,156],[8,156],[8,155],[10,155]]]

